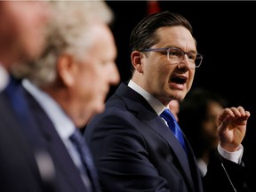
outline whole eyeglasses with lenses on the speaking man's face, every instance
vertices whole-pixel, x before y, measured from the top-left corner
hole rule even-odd
[[[172,64],[179,64],[186,54],[191,68],[199,68],[203,60],[203,55],[197,52],[183,52],[178,47],[143,49],[140,50],[140,52],[159,52],[161,54],[167,54],[167,59],[170,60]]]

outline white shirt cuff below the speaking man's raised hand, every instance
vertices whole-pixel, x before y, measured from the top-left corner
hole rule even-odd
[[[229,161],[232,161],[236,164],[241,164],[244,147],[242,144],[240,144],[237,151],[229,152],[229,151],[225,150],[224,148],[221,148],[220,143],[219,143],[218,144],[218,152],[220,153],[220,156],[228,159]]]

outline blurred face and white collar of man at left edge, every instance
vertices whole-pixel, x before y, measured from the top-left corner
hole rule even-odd
[[[14,63],[34,60],[43,51],[50,13],[42,1],[0,1],[0,91],[8,84]]]

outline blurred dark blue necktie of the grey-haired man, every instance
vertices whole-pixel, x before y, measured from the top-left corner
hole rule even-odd
[[[91,179],[92,182],[92,187],[90,186],[86,186],[87,188],[91,188],[89,189],[90,191],[100,191],[100,184],[98,182],[98,176],[97,176],[97,172],[95,170],[93,161],[92,161],[92,155],[91,152],[89,151],[89,148],[87,148],[87,145],[85,143],[85,140],[81,134],[81,132],[79,132],[78,129],[76,129],[76,131],[69,137],[69,139],[72,141],[72,143],[75,145],[81,160],[84,164],[84,168],[89,176],[89,178]],[[92,190],[92,188],[94,188]]]

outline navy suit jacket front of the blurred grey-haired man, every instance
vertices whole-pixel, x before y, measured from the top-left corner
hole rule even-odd
[[[60,185],[63,185],[61,188],[65,188],[64,186],[66,186],[65,191],[68,191],[68,188],[72,191],[85,191],[80,173],[69,156],[68,149],[60,139],[52,121],[45,114],[44,109],[41,108],[37,101],[28,92],[27,97],[29,100],[29,108],[33,108],[33,118],[35,118],[36,126],[44,140],[45,148],[50,151],[53,163],[56,166],[55,171],[57,180]]]

